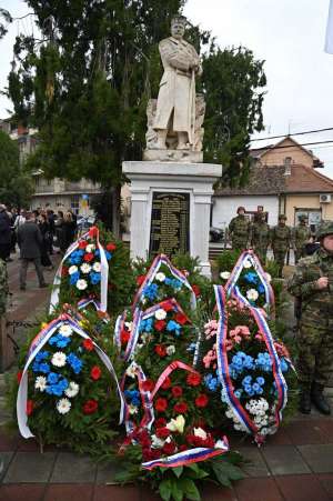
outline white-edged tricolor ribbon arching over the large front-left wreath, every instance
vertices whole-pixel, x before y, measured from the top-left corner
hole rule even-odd
[[[104,353],[104,351],[81,329],[81,327],[68,314],[62,313],[58,319],[52,320],[48,323],[42,331],[33,339],[30,344],[30,349],[28,351],[28,360],[26,362],[24,369],[22,371],[22,378],[19,385],[18,398],[17,398],[17,415],[18,415],[18,424],[19,430],[24,439],[29,439],[34,437],[28,427],[28,415],[27,415],[27,398],[28,398],[28,370],[31,362],[34,360],[37,353],[44,347],[44,344],[49,341],[49,339],[57,332],[57,330],[63,324],[70,325],[70,328],[78,335],[81,335],[83,339],[90,339],[92,341],[93,348],[99,355],[100,360],[104,363],[108,371],[113,377],[118,394],[120,398],[121,409],[120,409],[120,423],[123,421],[123,412],[124,412],[124,398],[118,382],[118,378],[112,365],[111,360]]]

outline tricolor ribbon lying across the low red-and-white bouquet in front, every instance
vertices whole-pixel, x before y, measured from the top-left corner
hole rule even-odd
[[[189,449],[183,452],[179,452],[173,455],[168,455],[167,458],[155,459],[154,461],[148,461],[142,463],[144,470],[152,470],[153,468],[176,468],[185,467],[188,464],[198,463],[200,461],[206,461],[208,459],[215,458],[216,455],[224,454],[229,451],[229,442],[226,437],[223,440],[216,442],[215,448],[195,448]]]

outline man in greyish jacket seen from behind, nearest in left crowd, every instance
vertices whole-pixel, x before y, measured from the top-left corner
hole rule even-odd
[[[20,289],[26,290],[27,270],[30,261],[34,264],[39,287],[47,287],[41,268],[42,236],[31,212],[27,212],[26,222],[18,230],[18,244],[21,259]]]

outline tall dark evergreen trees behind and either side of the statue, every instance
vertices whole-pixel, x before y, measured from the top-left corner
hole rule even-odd
[[[40,131],[40,146],[28,166],[49,178],[101,182],[105,192],[115,187],[113,214],[119,214],[121,163],[141,159],[147,102],[158,96],[158,42],[169,37],[171,18],[186,0],[26,1],[42,39],[17,38],[18,66],[9,74],[9,96],[17,119]],[[188,38],[198,50],[210,42],[210,33],[198,27]],[[251,130],[260,128],[261,101],[254,106],[258,112],[246,110],[256,100],[253,89],[263,82],[256,77],[262,69],[250,51],[221,51],[214,41],[203,62],[205,159],[223,160],[232,178],[245,164]],[[240,84],[232,92],[235,74]],[[231,137],[221,143],[226,112]]]

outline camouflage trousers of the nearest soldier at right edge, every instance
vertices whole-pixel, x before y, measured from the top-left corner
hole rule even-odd
[[[333,318],[311,322],[301,320],[297,337],[297,374],[303,388],[310,390],[312,382],[326,385],[333,365]],[[314,319],[313,319],[314,320]]]

